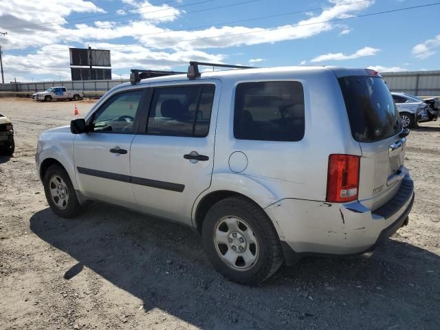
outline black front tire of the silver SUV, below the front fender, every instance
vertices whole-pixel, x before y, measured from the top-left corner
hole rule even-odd
[[[67,203],[65,208],[58,206],[52,198],[50,187],[51,180],[55,177],[60,177],[65,183],[65,192],[67,192]],[[74,190],[74,186],[72,185],[72,181],[63,167],[51,165],[49,168],[47,168],[43,179],[43,185],[47,203],[49,203],[50,208],[52,208],[52,211],[54,211],[55,214],[63,218],[73,218],[83,211],[83,207],[80,205],[78,198],[76,198],[76,192]]]

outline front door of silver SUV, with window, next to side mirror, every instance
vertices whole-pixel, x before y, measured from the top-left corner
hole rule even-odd
[[[86,197],[137,208],[131,188],[131,142],[143,89],[111,96],[92,115],[89,133],[74,140],[76,181]]]

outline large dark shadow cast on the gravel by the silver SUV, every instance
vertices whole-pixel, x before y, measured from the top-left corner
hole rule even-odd
[[[352,328],[362,318],[377,328],[417,327],[421,318],[424,327],[439,325],[436,309],[426,306],[439,303],[440,258],[408,243],[388,240],[369,260],[305,258],[247,287],[215,272],[197,232],[121,208],[94,203],[76,219],[47,208],[30,218],[30,228],[78,261],[61,267],[65,281],[89,267],[142,299],[145,312],[162,309],[196,327]]]

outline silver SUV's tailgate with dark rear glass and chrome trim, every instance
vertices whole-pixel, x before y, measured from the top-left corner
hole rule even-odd
[[[359,142],[359,199],[375,210],[389,201],[405,175],[406,138],[393,97],[382,77],[339,78],[353,138]]]

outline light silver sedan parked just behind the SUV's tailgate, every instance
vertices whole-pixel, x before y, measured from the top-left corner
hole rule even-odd
[[[437,117],[432,117],[428,104],[416,96],[395,92],[392,92],[391,95],[393,95],[402,125],[405,128],[414,127],[417,125],[417,122],[428,122],[432,119],[437,119]]]

